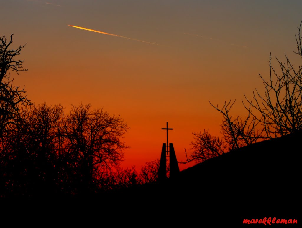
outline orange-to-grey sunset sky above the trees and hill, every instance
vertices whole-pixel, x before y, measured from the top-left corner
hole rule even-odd
[[[243,93],[262,88],[270,52],[297,59],[301,9],[300,0],[0,0],[0,36],[27,44],[20,58],[28,72],[11,75],[28,98],[120,115],[131,128],[122,166],[140,169],[160,157],[166,121],[183,161],[192,132],[220,134],[222,116],[208,100],[237,99],[232,113],[244,114]]]

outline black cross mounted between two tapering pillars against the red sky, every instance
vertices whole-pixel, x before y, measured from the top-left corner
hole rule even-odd
[[[162,144],[162,153],[160,156],[160,163],[159,163],[159,169],[158,169],[158,180],[164,181],[167,179],[167,162],[166,159],[169,157],[170,160],[170,179],[176,179],[179,175],[179,167],[177,158],[175,155],[175,150],[173,147],[173,143],[170,143],[168,145],[168,130],[173,130],[173,128],[168,128],[168,122],[167,127],[162,128],[162,130],[167,131],[167,144]]]

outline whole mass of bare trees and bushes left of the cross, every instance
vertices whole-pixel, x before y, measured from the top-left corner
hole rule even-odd
[[[27,71],[11,49],[12,36],[0,37],[0,198],[79,196],[136,186],[157,179],[159,161],[140,173],[120,162],[129,127],[90,104],[35,105],[14,86],[10,72]],[[168,172],[169,170],[167,170]]]

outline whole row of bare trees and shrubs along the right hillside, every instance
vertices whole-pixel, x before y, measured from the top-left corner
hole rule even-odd
[[[294,52],[300,57],[302,57],[301,26],[302,21],[296,35],[298,51]],[[272,67],[270,55],[269,80],[259,75],[264,85],[264,94],[258,89],[253,92],[252,99],[244,94],[245,101],[242,100],[242,103],[247,111],[246,118],[233,117],[230,114],[236,100],[224,102],[222,108],[209,101],[210,105],[223,116],[221,124],[223,137],[212,136],[208,131],[193,133],[192,153],[182,163],[204,161],[259,140],[302,130],[302,66],[295,69],[287,55],[285,58],[286,61],[283,63],[276,58],[281,72],[278,74]]]

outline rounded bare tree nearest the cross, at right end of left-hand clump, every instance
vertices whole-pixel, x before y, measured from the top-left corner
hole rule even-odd
[[[99,180],[122,161],[123,150],[128,146],[121,137],[129,128],[120,116],[111,117],[89,104],[73,105],[66,115],[65,127],[69,164],[78,172],[82,186],[79,191],[95,191]]]

